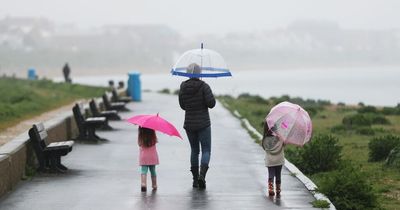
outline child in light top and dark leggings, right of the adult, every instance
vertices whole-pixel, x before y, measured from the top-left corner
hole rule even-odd
[[[265,150],[265,166],[268,167],[268,195],[280,197],[281,195],[281,171],[285,163],[284,143],[274,135],[272,129],[269,129],[267,122],[264,123],[264,136],[262,146]],[[275,177],[275,193],[274,193]]]

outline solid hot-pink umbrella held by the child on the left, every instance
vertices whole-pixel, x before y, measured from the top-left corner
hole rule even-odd
[[[128,122],[139,125],[144,128],[150,128],[162,133],[168,134],[170,136],[177,136],[182,139],[181,134],[176,130],[175,126],[170,122],[161,118],[157,115],[136,115],[129,119]]]

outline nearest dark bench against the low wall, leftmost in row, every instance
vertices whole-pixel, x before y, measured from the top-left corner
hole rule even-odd
[[[28,133],[39,162],[38,171],[63,173],[68,170],[67,167],[61,164],[61,156],[65,156],[72,151],[74,141],[47,144],[47,131],[43,123],[34,124]]]

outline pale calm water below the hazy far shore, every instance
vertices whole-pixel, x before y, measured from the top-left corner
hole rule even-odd
[[[232,72],[230,78],[206,78],[215,94],[258,94],[265,98],[299,96],[331,102],[395,106],[400,103],[400,67],[284,69]],[[176,90],[186,78],[170,74],[142,74],[142,90]],[[73,81],[107,85],[112,79],[127,81],[128,75],[74,77]],[[60,80],[60,78],[55,79]]]

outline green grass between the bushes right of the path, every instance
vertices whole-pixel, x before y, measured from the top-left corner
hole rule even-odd
[[[286,97],[286,96],[285,96]],[[280,101],[280,99],[270,98],[262,101],[255,97],[219,96],[222,104],[229,104],[226,108],[231,112],[237,110],[242,117],[262,133],[262,122],[269,110]],[[283,98],[283,97],[281,97]],[[356,165],[361,166],[361,170],[366,173],[368,181],[373,185],[374,191],[378,194],[378,202],[384,209],[399,209],[400,206],[400,171],[398,169],[387,168],[384,162],[369,162],[368,143],[373,137],[384,136],[387,134],[400,135],[400,115],[386,115],[390,125],[373,125],[374,135],[360,135],[353,130],[332,132],[331,128],[342,124],[344,116],[357,113],[357,106],[337,106],[332,104],[300,104],[312,106],[317,112],[312,115],[313,135],[319,133],[331,134],[339,139],[339,144],[343,146],[342,158],[350,160]],[[379,110],[379,109],[378,109]],[[329,172],[327,172],[329,173]],[[318,185],[323,174],[314,174],[310,178]]]

